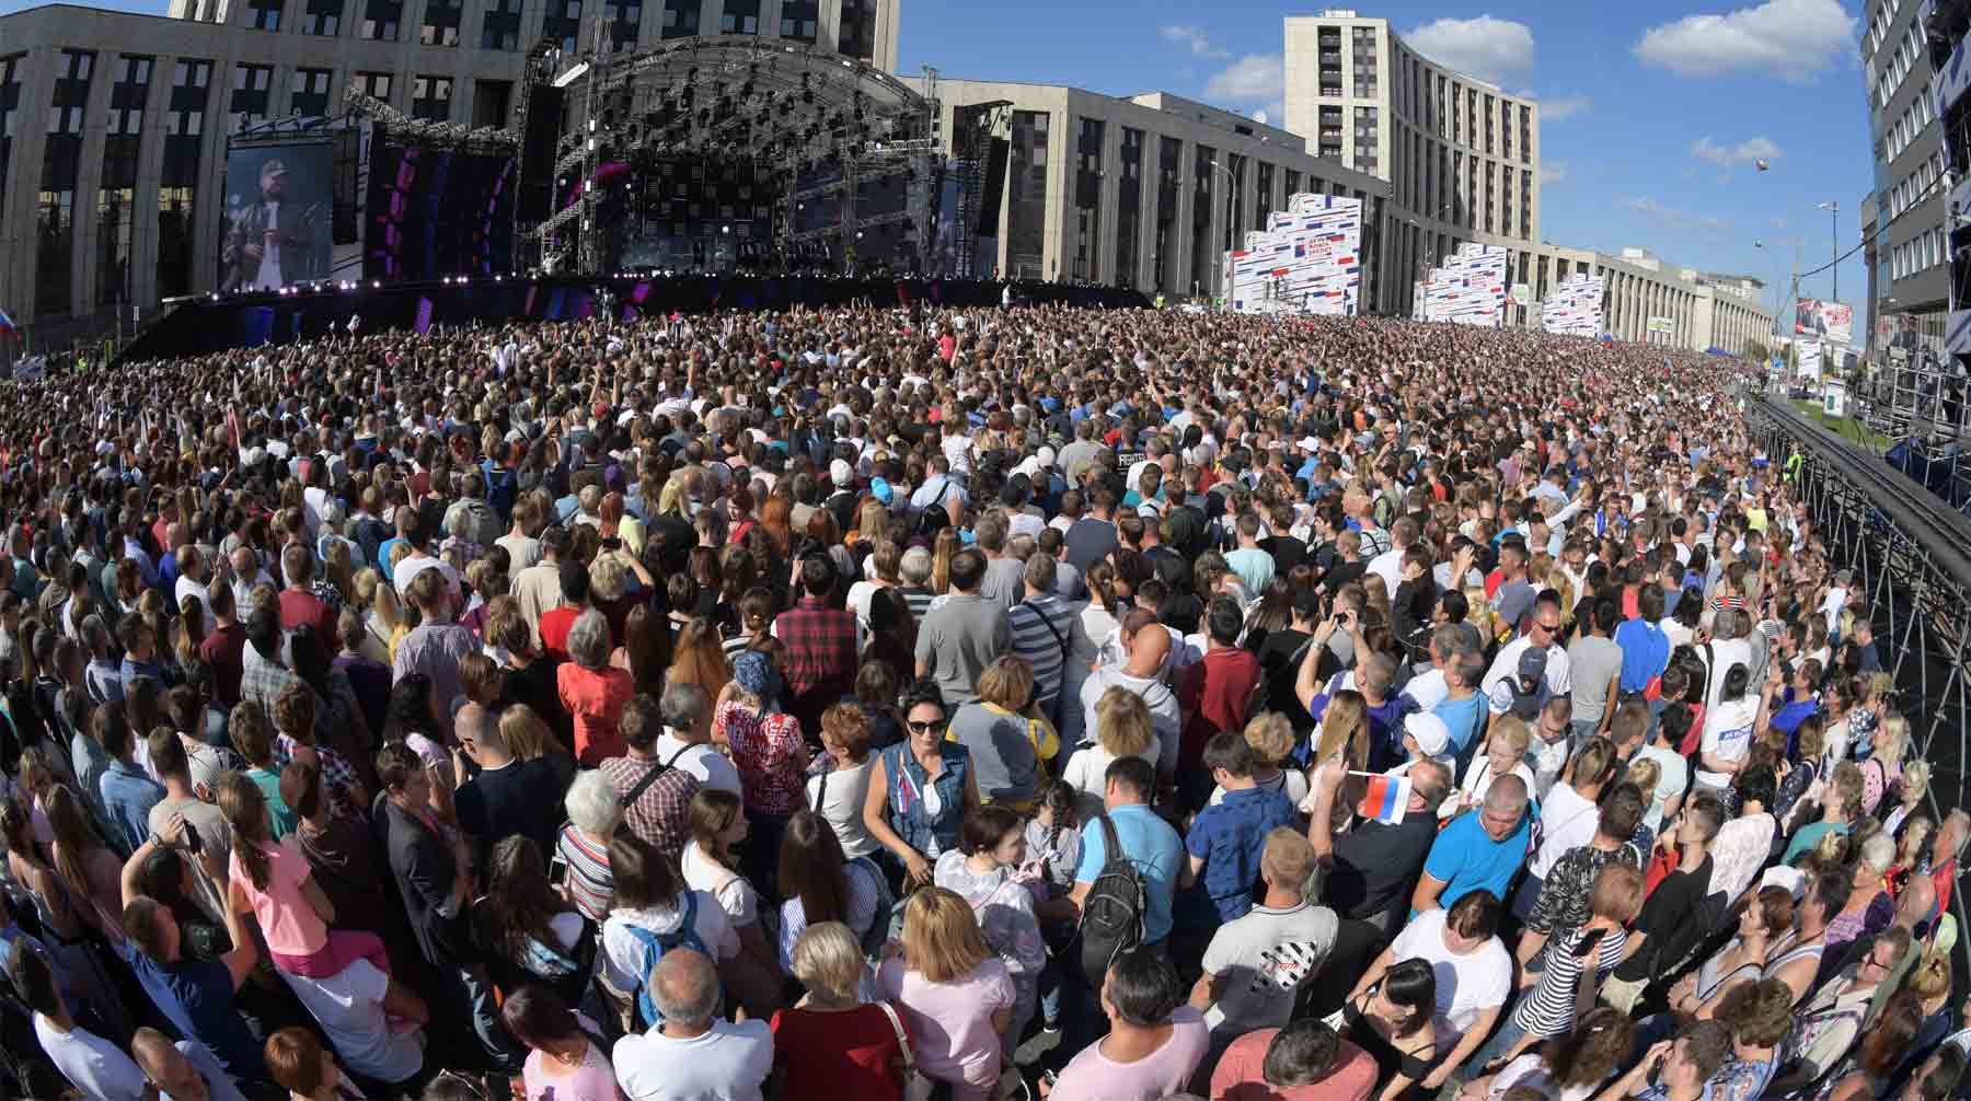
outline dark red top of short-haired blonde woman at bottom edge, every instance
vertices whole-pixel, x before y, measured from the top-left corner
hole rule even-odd
[[[903,1020],[903,1014],[897,1014]],[[909,1024],[903,1026],[909,1036]],[[903,1060],[897,1030],[873,1004],[842,1012],[782,1008],[773,1014],[773,1066],[784,1069],[786,1101],[865,1097],[903,1101],[891,1062]]]

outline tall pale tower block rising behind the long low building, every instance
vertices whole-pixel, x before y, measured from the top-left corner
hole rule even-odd
[[[1476,240],[1508,250],[1508,284],[1545,297],[1567,272],[1539,256],[1539,104],[1423,57],[1390,20],[1328,10],[1285,30],[1287,130],[1390,181],[1390,272],[1421,282]],[[1405,286],[1403,311],[1409,297]]]

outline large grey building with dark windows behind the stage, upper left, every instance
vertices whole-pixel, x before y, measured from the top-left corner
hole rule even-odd
[[[0,305],[43,335],[213,290],[227,136],[333,116],[359,89],[414,118],[514,126],[526,51],[698,33],[897,67],[899,0],[171,0],[0,16]],[[589,32],[593,33],[593,32]]]

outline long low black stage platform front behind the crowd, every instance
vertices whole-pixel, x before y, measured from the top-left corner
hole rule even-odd
[[[834,276],[538,276],[436,280],[422,284],[333,286],[325,290],[201,295],[144,329],[118,362],[191,356],[227,349],[288,345],[347,337],[349,319],[361,333],[426,331],[432,325],[501,325],[507,321],[579,321],[595,317],[603,293],[621,317],[708,313],[714,309],[788,309],[794,305],[999,305],[1001,282],[893,280]],[[1072,284],[1013,284],[1021,301],[1080,307],[1145,307],[1137,291]]]

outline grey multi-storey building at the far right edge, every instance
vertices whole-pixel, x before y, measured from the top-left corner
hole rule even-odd
[[[1869,91],[1869,142],[1874,154],[1872,219],[1865,240],[1869,301],[1855,325],[1874,335],[1910,331],[1941,341],[1949,311],[1947,193],[1936,81],[1918,0],[1869,0],[1863,6],[1861,57]],[[1849,242],[1841,242],[1845,252]],[[1855,333],[1857,345],[1863,333]],[[1872,345],[1870,345],[1872,347]]]

